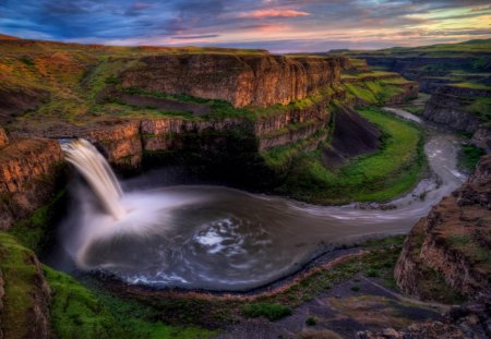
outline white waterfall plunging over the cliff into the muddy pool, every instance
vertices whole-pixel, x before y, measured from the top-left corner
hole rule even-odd
[[[65,159],[84,177],[105,210],[117,220],[127,211],[119,199],[121,185],[103,155],[86,140],[79,138],[62,144]]]

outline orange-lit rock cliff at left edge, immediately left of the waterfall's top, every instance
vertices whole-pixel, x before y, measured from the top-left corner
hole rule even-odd
[[[0,230],[52,197],[61,159],[53,140],[17,138],[0,149]]]

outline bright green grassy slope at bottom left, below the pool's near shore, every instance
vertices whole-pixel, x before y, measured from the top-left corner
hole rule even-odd
[[[52,290],[51,323],[60,339],[83,338],[209,338],[216,332],[156,320],[156,314],[136,302],[100,295],[72,277],[45,267]]]

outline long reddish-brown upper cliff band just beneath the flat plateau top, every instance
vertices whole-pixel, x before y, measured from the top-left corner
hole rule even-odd
[[[120,74],[123,87],[221,99],[235,107],[289,104],[339,82],[343,58],[160,55]]]

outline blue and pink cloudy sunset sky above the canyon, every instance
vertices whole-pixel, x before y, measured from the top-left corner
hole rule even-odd
[[[479,0],[0,0],[0,33],[106,45],[272,52],[379,49],[491,38]]]

